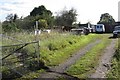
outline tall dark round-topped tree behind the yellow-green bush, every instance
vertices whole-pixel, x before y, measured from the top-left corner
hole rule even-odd
[[[47,10],[43,5],[39,7],[35,7],[31,12],[30,16],[34,17],[34,21],[38,21],[40,19],[44,19],[47,23],[47,27],[51,28],[53,26],[54,17],[52,16],[52,12]]]

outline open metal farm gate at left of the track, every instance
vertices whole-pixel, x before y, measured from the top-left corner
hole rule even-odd
[[[16,40],[0,35],[2,40]],[[18,78],[40,68],[39,41],[27,42],[16,40],[20,44],[1,46],[2,78]]]

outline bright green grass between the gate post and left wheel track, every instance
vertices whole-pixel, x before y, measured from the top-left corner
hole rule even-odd
[[[100,36],[95,34],[88,36],[67,35],[66,37],[59,36],[59,38],[48,40],[43,42],[43,44],[41,41],[41,58],[47,66],[58,65],[78,51],[78,49],[83,48],[97,38],[100,38]]]

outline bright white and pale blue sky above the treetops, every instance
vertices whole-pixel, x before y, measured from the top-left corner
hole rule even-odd
[[[103,13],[109,13],[118,21],[118,2],[120,0],[0,0],[0,21],[4,21],[8,14],[26,17],[40,5],[56,15],[63,9],[77,10],[77,21],[96,24]]]

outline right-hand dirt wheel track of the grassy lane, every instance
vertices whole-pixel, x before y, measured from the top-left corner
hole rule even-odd
[[[95,73],[90,75],[90,78],[106,78],[106,73],[110,69],[110,61],[115,53],[116,39],[112,39],[111,44],[104,50],[104,54],[99,60],[99,66]]]

